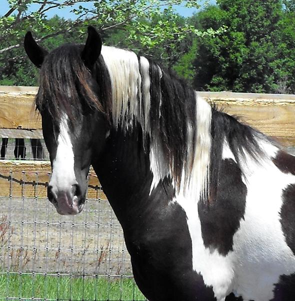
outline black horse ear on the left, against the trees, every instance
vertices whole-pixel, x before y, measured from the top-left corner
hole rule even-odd
[[[23,45],[28,58],[34,65],[40,68],[48,51],[36,43],[30,31],[26,32]]]

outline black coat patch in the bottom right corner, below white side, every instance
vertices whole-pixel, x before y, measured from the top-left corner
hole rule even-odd
[[[273,298],[270,301],[295,300],[295,273],[280,275],[279,282],[274,284]]]

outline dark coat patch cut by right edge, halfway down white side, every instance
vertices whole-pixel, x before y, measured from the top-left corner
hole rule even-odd
[[[295,254],[295,184],[288,185],[283,190],[282,201],[280,223],[286,243]]]

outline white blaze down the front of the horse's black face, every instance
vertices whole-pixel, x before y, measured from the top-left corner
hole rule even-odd
[[[68,117],[64,114],[59,124],[56,156],[52,162],[52,175],[49,185],[56,197],[60,191],[68,191],[76,184],[74,173],[74,154],[67,124]]]

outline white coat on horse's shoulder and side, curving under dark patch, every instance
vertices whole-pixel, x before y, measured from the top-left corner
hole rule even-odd
[[[217,301],[234,292],[244,301],[273,297],[279,276],[295,272],[295,255],[285,242],[280,224],[282,190],[295,176],[282,173],[271,161],[277,147],[259,141],[265,150],[261,164],[246,155],[243,164],[247,196],[244,218],[233,235],[233,250],[225,256],[204,246],[195,199],[178,194],[173,201],[185,211],[192,243],[192,266],[212,286]],[[225,141],[223,158],[234,159]]]

